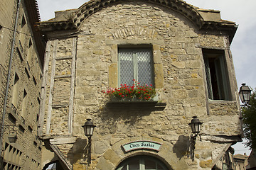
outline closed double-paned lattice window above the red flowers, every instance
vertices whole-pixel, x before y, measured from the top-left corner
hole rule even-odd
[[[119,86],[134,84],[154,84],[152,52],[150,48],[119,48]]]

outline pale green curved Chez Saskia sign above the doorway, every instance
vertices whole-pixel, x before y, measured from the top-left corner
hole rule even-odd
[[[161,147],[161,143],[159,142],[152,142],[147,140],[139,140],[134,142],[129,142],[127,144],[122,145],[125,152],[129,152],[135,149],[151,149],[159,151]]]

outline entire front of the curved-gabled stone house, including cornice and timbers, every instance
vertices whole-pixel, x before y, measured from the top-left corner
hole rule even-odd
[[[230,52],[237,26],[220,11],[179,0],[89,1],[56,12],[39,28],[48,38],[38,127],[47,148],[42,165],[212,169],[241,140]],[[124,77],[150,82],[157,101],[112,101],[102,93],[129,84]],[[194,161],[193,116],[203,122]],[[81,127],[88,118],[97,125],[91,152]]]

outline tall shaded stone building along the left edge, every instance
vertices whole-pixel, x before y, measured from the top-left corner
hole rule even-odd
[[[0,1],[1,169],[41,169],[37,127],[45,42],[34,26],[38,21],[36,1]]]

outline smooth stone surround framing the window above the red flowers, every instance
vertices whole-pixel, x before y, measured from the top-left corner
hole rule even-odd
[[[118,87],[118,47],[151,47],[154,64],[154,85],[156,89],[164,87],[164,70],[161,64],[160,46],[164,40],[107,40],[111,46],[112,64],[109,67],[109,86]]]

